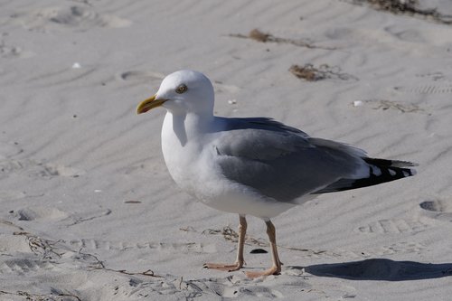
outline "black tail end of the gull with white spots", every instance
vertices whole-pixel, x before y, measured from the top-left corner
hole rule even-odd
[[[417,164],[407,161],[375,159],[363,157],[369,167],[369,174],[359,179],[340,179],[315,193],[334,193],[345,190],[362,188],[380,183],[399,180],[416,174],[416,170],[410,167]]]

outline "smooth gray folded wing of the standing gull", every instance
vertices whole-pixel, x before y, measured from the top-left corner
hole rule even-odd
[[[280,202],[315,193],[363,169],[362,150],[311,138],[267,118],[228,119],[214,142],[218,164],[231,181]]]

